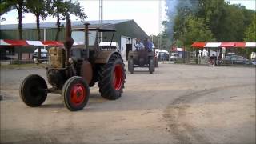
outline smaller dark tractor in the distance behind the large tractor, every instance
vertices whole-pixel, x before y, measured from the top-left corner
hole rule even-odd
[[[154,72],[155,58],[154,51],[135,50],[128,54],[128,71],[134,73],[135,67],[148,67],[150,74]]]

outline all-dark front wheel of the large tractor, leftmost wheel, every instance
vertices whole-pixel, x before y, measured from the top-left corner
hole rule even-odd
[[[20,86],[19,95],[27,106],[41,106],[47,97],[46,81],[37,74],[27,76]]]

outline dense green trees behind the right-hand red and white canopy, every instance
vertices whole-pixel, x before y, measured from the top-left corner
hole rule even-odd
[[[163,33],[170,39],[170,42],[166,43],[168,46],[182,44],[190,46],[196,41],[255,42],[256,40],[256,12],[247,10],[245,6],[230,5],[226,0],[167,0],[166,2],[169,3],[166,5],[167,20],[162,25],[165,27]],[[176,10],[169,10],[175,8]],[[175,11],[175,14],[169,14],[171,11]]]

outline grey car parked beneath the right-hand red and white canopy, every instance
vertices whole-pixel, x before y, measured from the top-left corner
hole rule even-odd
[[[246,59],[239,55],[230,55],[226,56],[222,63],[224,64],[236,64],[236,65],[250,65],[252,62],[250,62],[249,59]]]

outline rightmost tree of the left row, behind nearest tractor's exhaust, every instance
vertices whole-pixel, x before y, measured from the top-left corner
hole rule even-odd
[[[79,2],[74,1],[64,1],[64,0],[48,0],[48,3],[51,3],[49,13],[57,18],[57,33],[55,36],[55,41],[58,41],[58,35],[61,30],[61,19],[65,19],[70,14],[74,14],[78,18],[84,20],[87,18],[84,10]]]

